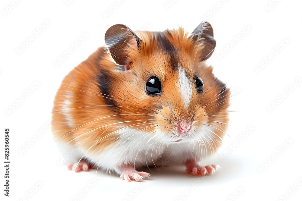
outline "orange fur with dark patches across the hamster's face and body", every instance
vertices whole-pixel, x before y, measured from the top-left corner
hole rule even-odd
[[[164,33],[136,33],[143,42],[139,49],[128,47],[132,72],[120,70],[108,49],[100,47],[63,79],[53,106],[53,135],[63,143],[78,144],[98,153],[119,140],[116,132],[123,127],[151,133],[157,127],[172,132],[179,119],[185,119],[194,126],[207,122],[215,127],[217,136],[212,140],[215,146],[208,147],[214,151],[226,130],[230,92],[214,77],[212,67],[196,55],[203,46],[192,43],[182,28]],[[164,37],[162,44],[159,37]],[[177,63],[171,60],[171,52],[164,49],[165,43],[173,45]],[[204,81],[204,92],[193,90],[188,110],[179,104],[182,97],[175,87],[178,83],[175,65],[184,69],[193,86],[195,74]],[[161,80],[160,95],[145,92],[146,81],[152,75]],[[103,84],[99,86],[100,83]]]

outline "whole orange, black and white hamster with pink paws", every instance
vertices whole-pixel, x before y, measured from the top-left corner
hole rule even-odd
[[[143,167],[184,165],[194,176],[226,134],[230,90],[205,61],[216,41],[201,22],[179,27],[105,33],[98,48],[63,79],[52,110],[53,137],[69,170],[115,172],[128,182],[150,176]],[[72,152],[70,150],[73,150]]]

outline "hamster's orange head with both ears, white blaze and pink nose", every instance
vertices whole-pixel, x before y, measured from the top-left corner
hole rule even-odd
[[[216,46],[208,22],[191,35],[182,28],[133,32],[117,24],[105,42],[117,64],[108,75],[110,92],[102,93],[114,97],[110,104],[123,125],[165,143],[221,140],[230,92],[204,62]]]

